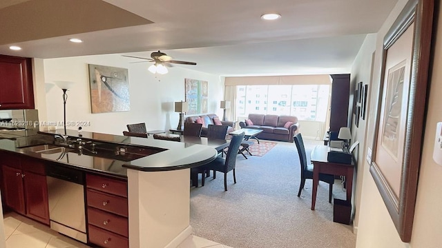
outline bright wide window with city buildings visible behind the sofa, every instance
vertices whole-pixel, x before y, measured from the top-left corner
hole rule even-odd
[[[330,85],[241,85],[236,87],[236,114],[296,116],[325,121]]]

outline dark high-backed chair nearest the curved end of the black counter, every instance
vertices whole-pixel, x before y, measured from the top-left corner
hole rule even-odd
[[[224,191],[227,191],[227,173],[233,170],[233,182],[236,183],[235,165],[238,149],[244,139],[244,132],[233,135],[229,144],[229,151],[226,158],[216,157],[214,161],[206,163],[200,167],[191,168],[192,178],[198,180],[198,174],[202,174],[201,185],[204,186],[206,171],[213,170],[213,179],[216,178],[216,172],[224,173]],[[196,175],[196,176],[195,176]]]

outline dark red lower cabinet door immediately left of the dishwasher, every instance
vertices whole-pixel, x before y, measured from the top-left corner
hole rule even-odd
[[[26,216],[49,224],[48,185],[46,176],[23,171]]]

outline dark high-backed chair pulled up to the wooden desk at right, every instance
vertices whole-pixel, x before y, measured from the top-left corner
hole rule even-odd
[[[296,148],[298,149],[300,168],[301,168],[301,182],[298,191],[298,197],[300,197],[301,191],[305,185],[305,179],[313,180],[314,165],[312,165],[311,163],[307,164],[307,156],[305,155],[304,141],[302,141],[302,136],[300,133],[294,136],[294,141],[296,144]],[[329,203],[332,203],[334,175],[320,173],[319,180],[322,180],[323,182],[329,184]]]

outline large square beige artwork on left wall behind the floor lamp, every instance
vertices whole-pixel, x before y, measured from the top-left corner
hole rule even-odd
[[[93,114],[131,110],[128,70],[105,65],[88,65],[90,109]]]

